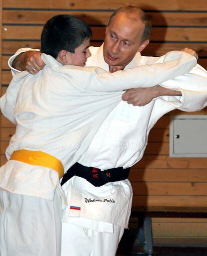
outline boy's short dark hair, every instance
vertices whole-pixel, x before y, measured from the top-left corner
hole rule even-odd
[[[59,51],[74,53],[92,36],[90,27],[79,18],[64,14],[49,19],[41,33],[41,52],[57,58]]]

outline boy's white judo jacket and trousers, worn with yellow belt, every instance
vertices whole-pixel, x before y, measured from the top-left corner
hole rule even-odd
[[[64,170],[84,154],[120,102],[121,90],[160,83],[188,72],[196,62],[186,53],[174,52],[162,58],[167,61],[162,66],[109,74],[99,68],[62,66],[44,54],[42,60],[42,71],[35,76],[17,74],[0,99],[2,113],[16,124],[6,157],[9,160],[21,149],[41,151],[58,159]],[[59,195],[64,202],[64,194],[58,174],[19,161],[9,160],[0,168],[0,254],[59,255]]]

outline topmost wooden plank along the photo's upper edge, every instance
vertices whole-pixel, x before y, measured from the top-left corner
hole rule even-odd
[[[206,11],[206,0],[200,0],[196,2],[194,0],[174,0],[163,1],[163,0],[120,0],[120,1],[93,1],[88,0],[87,3],[82,1],[66,1],[66,0],[36,0],[35,2],[25,0],[3,0],[3,8],[44,8],[44,9],[98,9],[98,10],[111,10],[117,9],[121,6],[133,5],[143,10],[177,10],[177,11]]]

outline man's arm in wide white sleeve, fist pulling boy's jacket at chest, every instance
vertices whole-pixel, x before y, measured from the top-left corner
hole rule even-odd
[[[181,93],[182,97],[159,97],[160,100],[180,110],[197,111],[207,105],[207,71],[198,64],[189,73],[165,81],[160,86],[163,87],[163,90],[167,88]],[[149,101],[147,98],[143,99],[144,97],[154,98],[154,95],[147,92],[147,89],[140,88],[138,94],[136,89],[131,89],[131,92],[129,89],[122,98],[133,105],[140,105],[141,100],[143,101],[141,102],[142,105],[147,104]],[[148,95],[145,96],[147,93]],[[169,91],[168,95],[173,95],[173,91],[171,95]],[[138,104],[136,104],[137,102]]]

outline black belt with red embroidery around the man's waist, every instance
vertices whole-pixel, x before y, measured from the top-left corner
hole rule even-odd
[[[108,182],[125,180],[128,178],[130,168],[117,167],[101,171],[95,167],[86,167],[79,163],[71,166],[63,175],[61,185],[73,176],[84,178],[95,187],[100,187]]]

